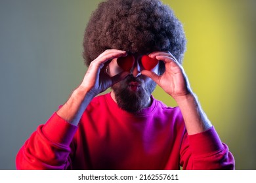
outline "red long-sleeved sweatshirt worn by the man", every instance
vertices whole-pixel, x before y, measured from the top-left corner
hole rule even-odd
[[[17,169],[234,169],[234,158],[211,127],[188,135],[179,107],[153,99],[131,114],[110,93],[95,97],[78,127],[56,113],[25,142]]]

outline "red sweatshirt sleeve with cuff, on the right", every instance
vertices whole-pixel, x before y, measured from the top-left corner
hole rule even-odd
[[[221,142],[214,127],[202,133],[184,135],[181,146],[182,169],[234,169],[234,157]]]

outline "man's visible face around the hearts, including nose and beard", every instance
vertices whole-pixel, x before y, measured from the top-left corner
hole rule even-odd
[[[119,107],[131,113],[149,107],[152,103],[151,93],[156,88],[156,82],[148,76],[141,75],[140,71],[144,69],[141,62],[142,54],[133,54],[133,58],[134,64],[129,71],[129,76],[114,84],[111,92],[112,99],[116,101]],[[109,64],[108,73],[110,75],[116,75],[119,69],[120,67],[116,59],[113,59]],[[158,73],[159,65],[156,65],[152,71]]]

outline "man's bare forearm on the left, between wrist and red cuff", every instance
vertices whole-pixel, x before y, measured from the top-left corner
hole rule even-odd
[[[95,96],[92,93],[87,92],[85,88],[79,86],[56,113],[62,119],[66,120],[66,122],[72,125],[78,125],[85,108],[87,108],[93,97]]]

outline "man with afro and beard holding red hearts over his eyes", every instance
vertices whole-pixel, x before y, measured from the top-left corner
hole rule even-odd
[[[100,3],[83,46],[83,81],[22,146],[17,169],[234,169],[189,86],[184,31],[169,7]],[[179,107],[154,99],[156,84]]]

